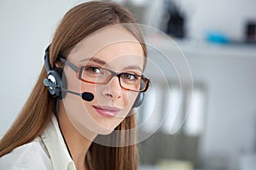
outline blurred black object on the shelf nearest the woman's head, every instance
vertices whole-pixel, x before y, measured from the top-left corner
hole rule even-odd
[[[185,37],[184,16],[179,11],[176,4],[170,0],[164,1],[162,25],[166,34],[179,38]]]

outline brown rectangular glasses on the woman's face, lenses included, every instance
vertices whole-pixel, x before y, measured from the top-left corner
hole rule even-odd
[[[61,61],[69,66],[73,71],[75,71],[78,79],[83,82],[89,82],[93,84],[106,84],[113,77],[118,77],[119,85],[121,88],[134,92],[146,92],[150,84],[149,79],[143,75],[139,76],[126,72],[117,73],[96,66],[77,67],[76,65],[73,65],[71,62],[63,58],[61,58]]]

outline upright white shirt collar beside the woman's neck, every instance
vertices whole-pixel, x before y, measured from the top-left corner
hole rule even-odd
[[[52,116],[41,138],[49,152],[54,169],[76,170],[55,116]]]

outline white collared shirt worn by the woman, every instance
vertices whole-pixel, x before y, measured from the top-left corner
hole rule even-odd
[[[75,170],[55,116],[44,133],[0,158],[3,170]]]

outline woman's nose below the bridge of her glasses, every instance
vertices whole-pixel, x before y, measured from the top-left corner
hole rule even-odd
[[[106,88],[102,90],[102,95],[109,99],[121,98],[122,88],[119,84],[119,78],[113,77],[106,85]]]

